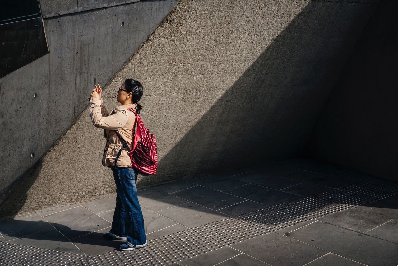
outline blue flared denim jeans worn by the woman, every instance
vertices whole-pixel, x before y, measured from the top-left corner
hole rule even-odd
[[[137,171],[134,168],[111,169],[117,193],[111,232],[119,237],[127,237],[129,246],[145,244],[144,217],[135,186]]]

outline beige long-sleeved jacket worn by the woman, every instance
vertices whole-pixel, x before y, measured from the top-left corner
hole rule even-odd
[[[123,144],[119,137],[117,137],[115,130],[119,132],[131,149],[135,132],[135,115],[132,111],[126,110],[127,108],[133,108],[136,110],[136,104],[116,106],[115,110],[108,113],[102,99],[90,99],[90,116],[93,121],[93,125],[94,127],[105,129],[104,137],[107,139],[105,151],[102,157],[103,166],[114,166],[117,153],[119,153],[119,150],[123,147]],[[131,160],[126,150],[122,151],[117,160],[117,166],[131,166]]]

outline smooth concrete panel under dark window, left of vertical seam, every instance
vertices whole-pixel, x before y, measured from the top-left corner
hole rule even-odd
[[[49,56],[0,79],[0,202],[17,178],[49,149],[45,141]]]

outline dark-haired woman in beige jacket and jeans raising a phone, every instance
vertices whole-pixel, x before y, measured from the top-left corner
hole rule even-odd
[[[137,171],[131,165],[129,154],[122,150],[115,166],[115,158],[123,147],[116,135],[116,131],[123,137],[129,147],[132,146],[135,131],[135,115],[127,108],[134,108],[138,113],[141,106],[138,104],[142,96],[142,85],[137,80],[126,79],[117,92],[117,101],[121,106],[109,114],[101,99],[100,84],[96,85],[90,95],[90,116],[94,127],[104,129],[107,139],[103,153],[102,164],[113,171],[116,184],[116,207],[113,214],[112,227],[109,233],[103,235],[106,240],[127,240],[119,248],[133,250],[146,245],[144,218],[138,202]]]

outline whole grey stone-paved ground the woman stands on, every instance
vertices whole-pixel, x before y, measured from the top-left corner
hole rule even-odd
[[[280,176],[289,172],[295,172],[297,170],[313,172],[309,174],[309,178],[308,176],[304,177],[304,180],[295,180],[294,178],[291,179]],[[317,177],[320,177],[320,179]],[[280,178],[280,180],[277,178]],[[303,177],[301,176],[300,178]],[[312,192],[315,194],[333,192],[336,191],[335,187],[338,187],[341,184],[346,187],[350,186],[351,184],[355,184],[356,182],[362,182],[359,181],[361,178],[363,180],[377,181],[377,178],[367,176],[364,177],[361,176],[361,174],[355,174],[353,172],[349,172],[348,170],[328,164],[323,164],[322,162],[315,160],[306,158],[293,158],[281,160],[261,167],[229,171],[207,177],[194,178],[191,180],[179,180],[168,184],[154,186],[152,188],[139,190],[139,201],[144,214],[147,240],[150,241],[148,248],[139,249],[139,253],[134,253],[136,251],[133,251],[132,253],[115,251],[114,249],[123,241],[108,242],[101,239],[101,235],[109,231],[110,228],[109,226],[113,217],[115,205],[115,194],[84,203],[60,206],[58,208],[39,211],[31,215],[14,217],[14,219],[9,219],[8,222],[7,220],[0,220],[0,232],[8,232],[9,235],[6,235],[6,237],[13,237],[14,240],[12,241],[22,245],[29,246],[29,244],[31,244],[46,247],[49,248],[49,250],[54,250],[57,248],[58,243],[58,250],[68,250],[68,248],[70,248],[69,250],[75,250],[71,254],[76,255],[66,254],[64,261],[65,263],[72,263],[71,265],[76,266],[102,265],[98,264],[101,259],[105,259],[104,262],[107,262],[107,259],[112,261],[115,260],[115,262],[122,262],[123,258],[125,261],[128,259],[134,261],[133,258],[136,256],[134,254],[141,254],[142,252],[144,252],[142,254],[147,254],[146,256],[148,256],[151,261],[144,256],[137,261],[140,261],[140,263],[146,261],[148,265],[158,265],[156,263],[169,260],[169,257],[162,256],[165,254],[173,254],[168,253],[168,251],[172,251],[174,248],[176,249],[174,254],[179,254],[181,256],[184,255],[182,252],[185,250],[185,248],[187,248],[187,250],[191,250],[191,247],[188,245],[189,242],[187,242],[191,241],[189,239],[192,239],[192,241],[201,242],[200,246],[197,247],[199,248],[199,253],[197,253],[195,256],[192,255],[190,258],[186,257],[186,260],[176,260],[174,263],[172,263],[172,265],[197,265],[197,262],[201,263],[199,265],[267,265],[266,262],[268,262],[270,265],[304,265],[306,263],[308,263],[307,265],[357,265],[358,262],[362,262],[367,265],[392,265],[391,263],[394,261],[396,265],[398,264],[398,258],[396,255],[398,252],[395,252],[395,254],[393,252],[396,251],[394,248],[397,245],[394,243],[394,241],[396,242],[396,233],[394,233],[396,232],[396,220],[394,219],[396,219],[396,216],[398,215],[398,197],[396,196],[398,193],[395,196],[390,196],[387,199],[377,201],[372,198],[373,196],[367,196],[369,199],[371,199],[371,202],[365,203],[363,206],[357,206],[356,208],[353,208],[347,212],[340,211],[326,216],[321,215],[321,217],[316,218],[318,220],[328,221],[328,223],[326,223],[328,226],[337,227],[338,233],[333,230],[326,230],[326,228],[329,227],[325,226],[317,230],[309,230],[311,227],[314,227],[314,225],[317,225],[317,223],[324,223],[312,218],[300,220],[296,219],[298,217],[295,217],[294,215],[291,216],[289,214],[288,219],[294,219],[294,221],[281,227],[278,226],[279,222],[277,220],[273,221],[273,219],[279,218],[275,218],[275,216],[272,215],[287,215],[287,213],[285,213],[285,211],[282,209],[278,213],[278,205],[283,206],[283,204],[296,200],[298,200],[297,202],[300,202],[300,199],[306,199],[305,196],[312,195],[310,193],[311,190],[313,190]],[[195,182],[200,184],[195,184]],[[331,187],[327,188],[325,186],[326,183]],[[380,183],[390,185],[386,182]],[[293,185],[290,186],[291,189],[289,190],[289,188],[284,186],[285,184]],[[241,188],[244,188],[245,186],[248,186],[248,188],[251,187],[252,190],[242,190]],[[295,188],[295,186],[297,187]],[[226,190],[226,188],[230,189]],[[256,188],[257,190],[253,188]],[[278,188],[279,190],[276,190],[275,188]],[[191,191],[190,189],[197,192],[206,192],[206,196],[208,198],[214,197],[214,199],[198,200],[198,198],[201,198],[200,193],[192,198],[192,195],[183,192],[184,190],[189,192]],[[238,195],[230,193],[230,191],[234,190]],[[339,187],[338,190],[341,190],[341,188]],[[252,195],[247,192],[252,193]],[[244,195],[244,193],[246,194]],[[181,197],[174,194],[179,194],[179,196],[183,196],[185,198],[181,199]],[[228,200],[230,198],[233,199],[233,197],[243,199],[241,202],[219,209],[217,206],[220,205],[217,205],[219,204],[217,201],[222,203],[222,197],[220,195],[224,194],[231,196],[226,197]],[[285,198],[281,196],[278,197],[277,195],[283,195]],[[338,193],[333,195],[333,199],[331,200],[339,198]],[[257,199],[262,202],[255,202],[253,201],[253,198],[252,200],[246,198],[253,196],[257,197]],[[316,211],[317,208],[333,210],[333,208],[330,209],[327,205],[316,204],[318,198],[316,198],[316,201],[314,201],[313,204],[311,203],[311,211]],[[344,199],[344,197],[341,199]],[[192,201],[197,201],[197,203]],[[208,205],[209,202],[213,205]],[[214,203],[217,204],[214,205]],[[228,203],[231,202],[228,201]],[[310,203],[310,201],[308,201],[308,203]],[[242,214],[248,212],[255,213],[256,210],[261,210],[264,207],[269,208],[269,205],[273,205],[271,207],[274,208],[275,211],[272,212],[272,217],[269,217],[269,221],[267,220],[267,222],[264,224],[257,224],[256,216],[242,216]],[[212,206],[213,209],[209,208]],[[217,211],[214,209],[217,209]],[[77,214],[74,215],[73,213]],[[83,213],[85,215],[82,215]],[[91,213],[91,215],[87,216],[89,213]],[[301,211],[298,211],[297,213],[299,215],[306,215],[306,213]],[[322,214],[324,212],[320,213]],[[354,215],[353,213],[357,215]],[[236,215],[240,215],[240,219],[246,217],[247,220],[244,220],[246,219],[244,218],[241,220],[241,224],[236,222],[223,222],[229,221],[223,219],[232,219],[232,217]],[[336,216],[333,218],[333,215]],[[370,217],[373,217],[373,219],[370,219],[369,221],[369,217],[367,217],[367,215],[370,215]],[[46,220],[51,222],[51,224]],[[84,223],[83,220],[87,223]],[[295,222],[296,220],[298,222]],[[98,221],[102,221],[104,224],[100,225]],[[283,223],[287,222],[287,220],[284,219],[281,221],[283,221]],[[383,223],[383,221],[386,222]],[[2,223],[6,226],[2,226]],[[223,223],[225,225],[232,226],[232,228],[225,227]],[[272,230],[275,232],[268,234],[256,233],[263,230],[260,228],[256,229],[257,227],[265,228],[267,223],[271,223],[271,227],[273,227]],[[331,223],[340,224],[339,226],[336,226],[332,225]],[[52,229],[45,230],[44,228],[46,226],[51,226]],[[105,227],[99,228],[101,226]],[[213,228],[213,226],[215,227]],[[253,229],[249,228],[248,226],[253,227]],[[343,227],[349,227],[351,230],[345,229]],[[359,231],[364,232],[368,228],[371,228],[370,231],[366,232],[365,235],[361,234],[362,240],[367,240],[366,243],[355,242],[361,240],[361,237],[358,235]],[[355,231],[355,229],[358,231]],[[52,239],[50,235],[46,235],[47,232],[53,233]],[[225,235],[220,235],[223,234],[223,232]],[[66,238],[63,234],[65,234]],[[22,235],[25,236],[22,237]],[[61,239],[59,239],[59,241],[54,241],[54,239],[57,239],[59,235],[64,237],[63,241]],[[232,235],[234,235],[234,237],[238,235],[244,237],[241,237],[242,240],[238,240],[238,242],[235,241],[236,243],[233,243],[234,241],[226,241],[224,238],[230,238]],[[306,237],[309,235],[312,235],[313,237],[308,240]],[[316,237],[318,237],[318,239],[316,239]],[[334,243],[333,240],[330,240],[330,237],[333,239],[338,239],[339,243]],[[203,238],[203,241],[201,241],[201,238]],[[259,239],[266,238],[270,239],[268,239],[268,241],[262,242],[274,243],[269,244],[269,247],[267,246],[264,248],[270,252],[269,255],[265,256],[263,254],[264,251],[260,249],[257,253],[253,251],[252,248],[255,249],[256,245],[251,243],[256,243],[256,241],[259,241]],[[286,239],[290,239],[290,242],[287,242]],[[2,241],[2,235],[0,235],[0,241]],[[3,241],[7,241],[7,239],[4,239]],[[9,243],[0,243],[11,245],[12,241],[9,239]],[[262,242],[259,244],[264,244]],[[229,246],[223,246],[221,243],[230,244]],[[161,246],[159,246],[162,244],[165,248],[168,248],[168,251],[165,251],[166,249],[162,249]],[[234,249],[234,244],[237,246],[241,245],[241,249],[244,250],[235,248],[236,252],[238,253],[235,254],[233,253],[234,251],[230,252],[231,249]],[[217,246],[219,246],[219,248],[217,248]],[[329,246],[332,246],[332,248],[330,248],[331,250],[327,249]],[[348,248],[344,249],[342,248],[343,246]],[[0,246],[0,251],[7,250],[8,247],[9,246]],[[351,250],[350,247],[354,248]],[[20,248],[20,246],[18,246],[18,248]],[[369,253],[369,250],[372,248],[375,250],[378,250],[377,248],[379,248],[383,249],[384,251],[381,250],[381,253],[379,252],[381,255],[376,255],[376,258],[368,258],[367,253]],[[20,252],[23,252],[21,248],[19,250]],[[154,250],[163,251],[155,254]],[[204,251],[200,252],[200,250]],[[205,252],[206,250],[212,251]],[[321,252],[319,250],[321,250]],[[45,254],[45,252],[43,251],[41,254]],[[362,256],[362,253],[365,253],[365,255]],[[28,258],[33,258],[33,253],[25,257],[21,254],[18,254],[18,256],[8,256],[7,258],[16,258],[16,260],[20,262],[27,262]],[[73,257],[78,256],[78,254],[88,254],[93,257]],[[108,257],[104,257],[103,254],[108,254]],[[8,255],[10,255],[10,253],[8,253]],[[189,253],[184,256],[188,255]],[[111,256],[114,256],[114,258]],[[297,256],[297,264],[291,264],[293,263],[292,258],[295,256]],[[377,259],[381,259],[382,256],[385,256],[386,258],[382,260],[381,264],[375,264],[375,261]],[[70,262],[72,258],[74,258],[74,262]],[[34,259],[38,260],[39,257],[36,256]],[[2,256],[0,254],[0,264],[1,260]],[[41,261],[49,262],[47,258],[41,258]],[[48,264],[45,263],[44,265]],[[141,264],[138,263],[137,265]]]

